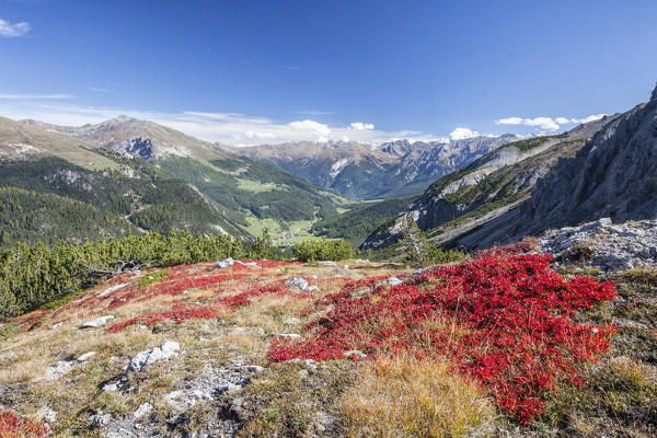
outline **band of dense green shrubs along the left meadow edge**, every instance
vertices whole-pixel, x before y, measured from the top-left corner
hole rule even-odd
[[[188,232],[163,237],[155,232],[102,239],[83,244],[19,243],[0,253],[0,321],[68,298],[108,278],[117,266],[174,266],[243,255],[242,245],[228,235]],[[166,272],[161,272],[165,275]],[[54,302],[53,302],[54,301]]]

